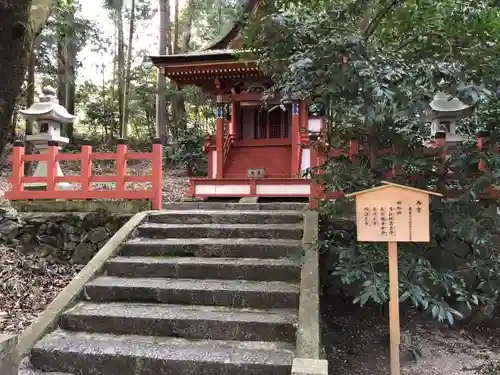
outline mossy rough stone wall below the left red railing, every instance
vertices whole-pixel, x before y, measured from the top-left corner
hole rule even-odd
[[[131,216],[0,209],[0,243],[18,246],[26,253],[85,264]]]

